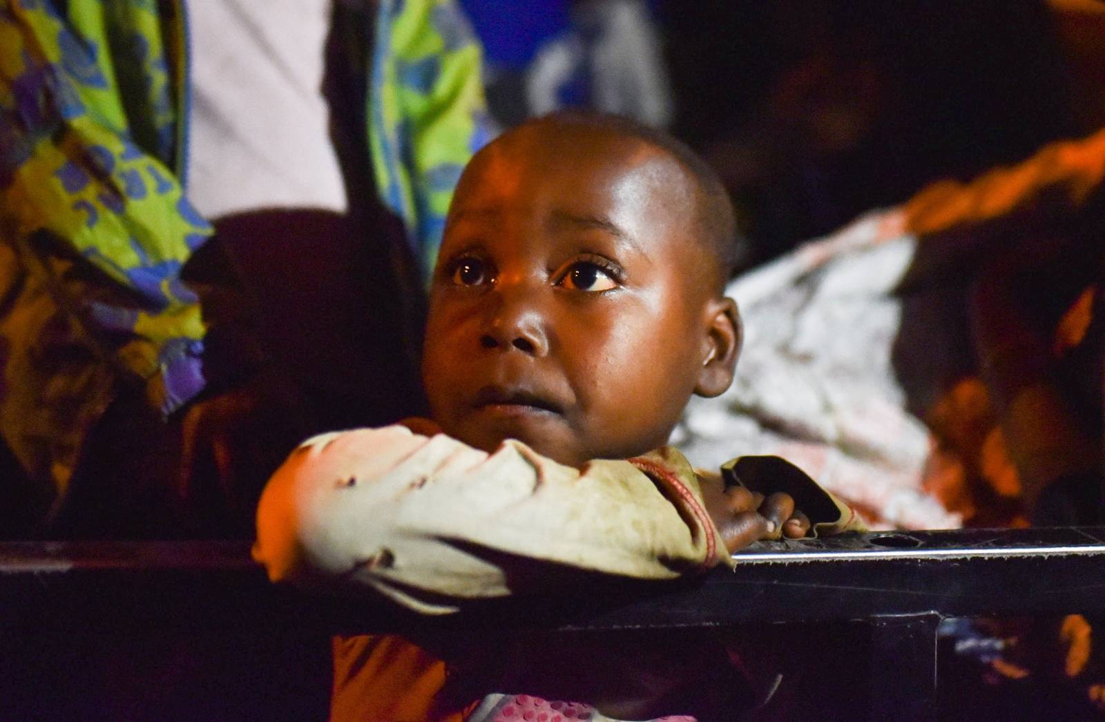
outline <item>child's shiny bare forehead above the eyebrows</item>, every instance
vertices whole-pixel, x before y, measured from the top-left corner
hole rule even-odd
[[[683,166],[652,144],[603,128],[536,124],[502,136],[472,160],[450,220],[599,217],[625,231],[692,242],[695,192]]]

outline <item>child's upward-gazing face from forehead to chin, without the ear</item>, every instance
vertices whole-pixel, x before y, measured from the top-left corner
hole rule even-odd
[[[662,150],[594,129],[529,126],[480,154],[430,297],[442,429],[572,465],[665,443],[712,355],[694,192]]]

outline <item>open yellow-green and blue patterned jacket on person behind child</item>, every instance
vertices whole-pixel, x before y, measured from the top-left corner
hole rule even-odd
[[[212,233],[187,193],[187,13],[0,2],[0,433],[61,499],[120,384],[166,416],[203,388],[204,326],[180,280]],[[428,272],[490,139],[480,48],[452,0],[379,0],[373,28],[371,170]]]

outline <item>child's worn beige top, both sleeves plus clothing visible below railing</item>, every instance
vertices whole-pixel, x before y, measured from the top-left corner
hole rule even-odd
[[[296,449],[262,495],[254,557],[275,582],[378,594],[422,614],[508,595],[588,594],[597,575],[662,580],[738,564],[703,504],[703,484],[723,483],[792,494],[819,533],[863,529],[852,510],[777,458],[702,474],[665,447],[575,469],[514,440],[488,454],[392,426],[327,433]],[[532,711],[639,720],[648,715],[599,710],[651,710],[707,679],[733,693],[718,681],[736,672],[717,643],[688,662],[654,635],[632,652],[540,635],[476,637],[336,638],[332,719],[508,720]],[[566,665],[593,674],[559,690],[562,697],[505,693],[562,681]],[[692,694],[706,703],[706,692]],[[555,699],[577,702],[554,708],[547,700]]]

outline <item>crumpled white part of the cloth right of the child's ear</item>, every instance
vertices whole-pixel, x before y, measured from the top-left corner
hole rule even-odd
[[[745,324],[736,380],[692,399],[673,438],[696,464],[735,449],[777,454],[877,526],[961,525],[922,489],[934,441],[893,368],[904,302],[894,290],[917,243],[886,238],[894,217],[865,216],[729,285]],[[941,355],[932,348],[930,363]]]

